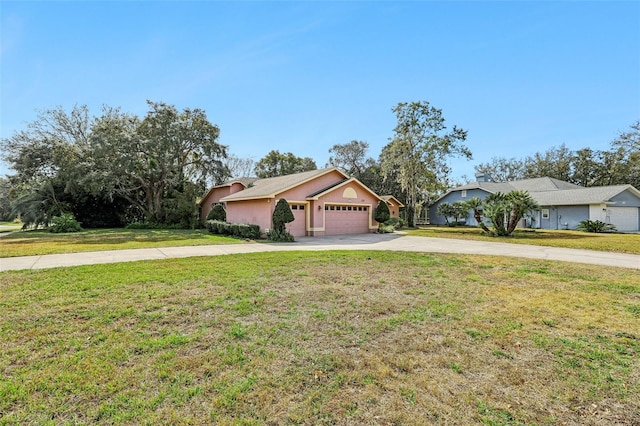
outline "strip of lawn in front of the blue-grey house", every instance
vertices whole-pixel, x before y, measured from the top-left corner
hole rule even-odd
[[[421,237],[499,241],[504,243],[640,254],[640,234],[594,234],[579,231],[526,229],[516,230],[510,237],[497,238],[483,235],[480,228],[465,226],[424,226],[417,229],[408,229],[406,232],[409,235]]]

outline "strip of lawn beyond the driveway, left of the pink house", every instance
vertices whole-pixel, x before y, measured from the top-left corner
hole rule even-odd
[[[235,238],[210,234],[204,229],[118,228],[92,229],[70,234],[53,234],[47,230],[36,230],[1,237],[0,257],[242,242]]]

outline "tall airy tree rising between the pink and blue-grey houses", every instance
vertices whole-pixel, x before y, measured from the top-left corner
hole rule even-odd
[[[397,172],[397,180],[412,210],[409,225],[417,221],[417,203],[432,199],[446,189],[450,169],[447,159],[453,155],[471,158],[463,144],[467,132],[453,126],[445,132],[442,110],[428,102],[400,102],[392,111],[398,123],[394,136],[381,154],[383,175]]]

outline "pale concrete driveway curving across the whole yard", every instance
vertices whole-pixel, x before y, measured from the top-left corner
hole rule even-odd
[[[476,255],[484,254],[640,269],[640,255],[633,254],[509,244],[493,241],[485,242],[454,240],[447,238],[413,237],[402,234],[358,234],[332,237],[301,237],[298,238],[295,243],[247,243],[164,247],[9,257],[0,258],[0,271],[292,250],[387,250]]]

